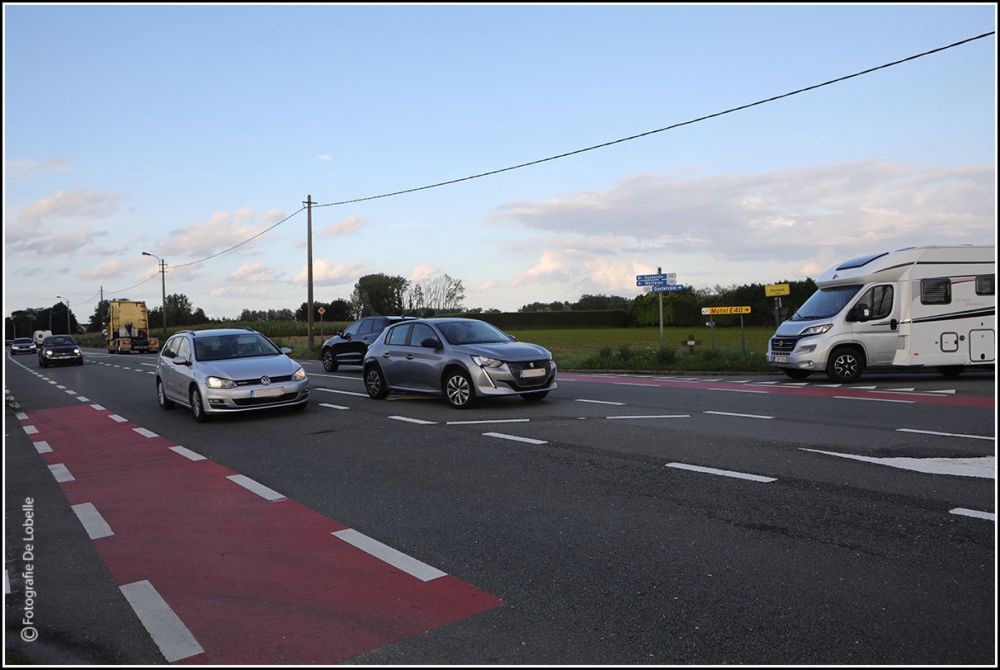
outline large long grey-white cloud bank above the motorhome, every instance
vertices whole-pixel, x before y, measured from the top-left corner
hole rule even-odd
[[[921,168],[874,161],[749,175],[637,175],[607,190],[512,202],[501,217],[558,235],[636,241],[633,251],[719,262],[818,262],[919,244],[994,238],[991,166]],[[619,248],[616,252],[624,251]],[[543,273],[536,266],[528,276]]]

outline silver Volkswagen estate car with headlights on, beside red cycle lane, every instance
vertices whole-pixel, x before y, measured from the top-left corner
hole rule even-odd
[[[309,380],[302,366],[255,330],[185,330],[167,340],[156,366],[156,399],[191,408],[196,421],[213,414],[270,407],[304,409]]]

